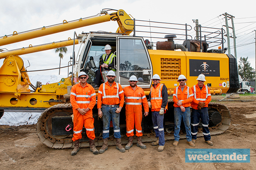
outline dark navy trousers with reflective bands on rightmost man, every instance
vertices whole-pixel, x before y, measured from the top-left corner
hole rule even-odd
[[[198,125],[199,125],[200,118],[202,121],[204,140],[205,141],[211,140],[210,130],[208,128],[208,125],[209,125],[208,108],[201,108],[201,110],[192,109],[192,115],[191,115],[192,139],[197,138]]]

